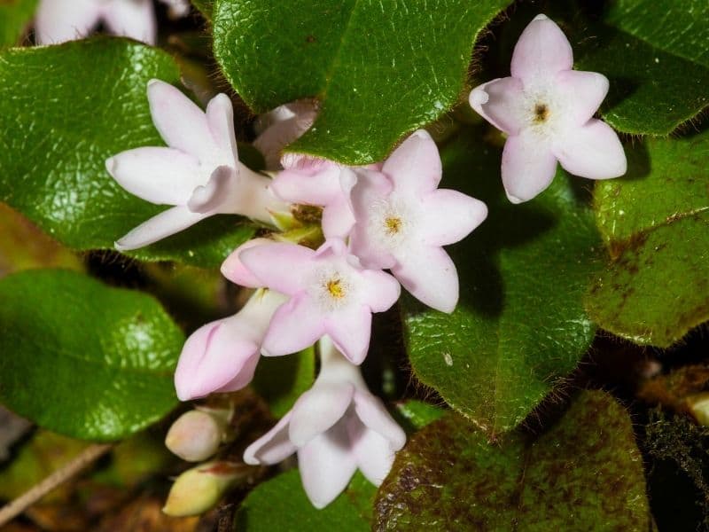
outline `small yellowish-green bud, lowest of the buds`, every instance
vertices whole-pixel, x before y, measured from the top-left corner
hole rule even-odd
[[[244,464],[230,462],[208,462],[188,469],[172,485],[162,511],[172,517],[204,513],[244,478],[247,470]]]

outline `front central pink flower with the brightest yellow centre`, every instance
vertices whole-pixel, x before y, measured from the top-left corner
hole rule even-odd
[[[370,346],[372,312],[384,312],[399,299],[396,279],[362,268],[341,239],[329,239],[317,251],[276,243],[253,246],[238,256],[262,286],[290,296],[263,340],[267,356],[295,353],[328,334],[349,360],[360,364]]]

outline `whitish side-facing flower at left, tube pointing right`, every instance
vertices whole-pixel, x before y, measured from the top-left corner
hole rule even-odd
[[[219,94],[206,113],[172,85],[148,83],[152,120],[169,147],[142,147],[106,160],[127,191],[156,204],[174,205],[116,242],[136,249],[183,231],[208,216],[245,215],[272,223],[271,213],[290,207],[270,192],[271,180],[238,160],[229,97]]]

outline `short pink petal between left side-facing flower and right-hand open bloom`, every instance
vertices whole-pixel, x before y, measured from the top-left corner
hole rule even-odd
[[[274,178],[271,189],[281,200],[322,207],[342,196],[339,172],[334,163],[323,164],[314,173],[286,169]]]

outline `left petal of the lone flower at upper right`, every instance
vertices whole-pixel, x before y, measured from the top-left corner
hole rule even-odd
[[[508,135],[517,135],[524,125],[520,104],[524,98],[521,80],[497,78],[471,90],[468,101],[479,115]]]

